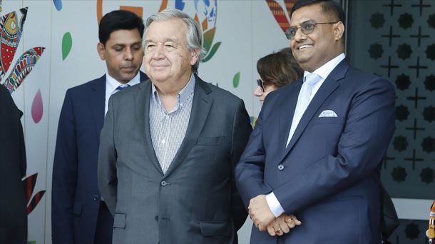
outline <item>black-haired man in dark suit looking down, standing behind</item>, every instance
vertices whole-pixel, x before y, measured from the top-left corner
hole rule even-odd
[[[143,61],[143,20],[130,11],[101,19],[97,46],[107,72],[66,91],[53,162],[53,243],[111,243],[113,217],[97,183],[100,131],[108,98],[148,79]],[[130,106],[133,106],[130,104]]]

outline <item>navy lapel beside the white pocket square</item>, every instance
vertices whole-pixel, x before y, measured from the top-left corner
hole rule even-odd
[[[348,68],[349,68],[349,64],[347,64],[346,61],[342,61],[334,68],[334,70],[332,70],[331,73],[329,73],[329,76],[326,78],[326,80],[324,80],[322,86],[320,86],[316,95],[314,95],[312,101],[309,103],[307,110],[305,110],[305,113],[302,116],[299,124],[297,125],[296,131],[293,134],[289,145],[287,146],[287,148],[285,148],[284,154],[280,159],[280,161],[282,161],[282,159],[284,159],[285,156],[287,156],[287,154],[292,150],[293,146],[295,146],[295,143],[300,138],[300,136],[304,132],[308,123],[312,120],[312,117],[317,112],[319,107],[322,106],[322,104],[324,103],[324,101],[326,101],[329,95],[339,86],[339,83],[337,81],[344,78],[344,75],[346,74]],[[295,111],[293,110],[293,113],[294,112]],[[288,131],[287,131],[287,136],[288,136]]]

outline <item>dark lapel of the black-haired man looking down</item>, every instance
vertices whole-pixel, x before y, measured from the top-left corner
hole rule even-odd
[[[106,103],[106,75],[101,76],[92,84],[89,102],[91,103],[97,138],[100,138],[100,131],[104,123],[104,106]]]

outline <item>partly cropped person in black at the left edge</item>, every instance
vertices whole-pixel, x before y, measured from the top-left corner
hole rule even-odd
[[[27,243],[23,115],[0,84],[0,243]]]

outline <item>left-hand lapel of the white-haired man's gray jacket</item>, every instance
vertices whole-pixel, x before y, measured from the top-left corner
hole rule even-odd
[[[136,121],[138,121],[138,131],[140,133],[140,138],[142,138],[142,143],[145,146],[145,154],[150,159],[151,163],[155,169],[160,172],[163,176],[162,168],[160,163],[158,163],[157,156],[155,156],[153,140],[151,139],[150,132],[150,96],[151,96],[151,81],[144,81],[136,86],[138,86],[137,94],[135,96],[135,113]]]

